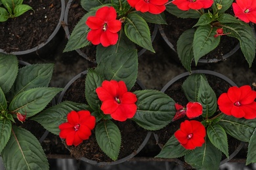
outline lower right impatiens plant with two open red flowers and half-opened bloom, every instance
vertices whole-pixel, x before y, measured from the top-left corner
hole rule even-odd
[[[190,104],[186,108],[175,105],[175,120],[184,115],[189,118],[193,108],[192,118],[196,120],[184,120],[156,157],[184,156],[195,169],[219,169],[222,153],[229,156],[230,135],[249,143],[246,164],[256,162],[256,92],[250,86],[231,86],[217,99],[205,75],[192,74],[183,82],[182,90]]]

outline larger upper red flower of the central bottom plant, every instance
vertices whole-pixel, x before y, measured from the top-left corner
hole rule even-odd
[[[114,120],[123,122],[135,115],[137,97],[134,93],[127,92],[125,82],[104,80],[102,86],[96,88],[96,93],[102,101],[100,109],[104,114],[110,114]]]

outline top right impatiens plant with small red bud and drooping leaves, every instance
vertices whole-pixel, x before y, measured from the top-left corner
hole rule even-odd
[[[234,16],[228,14],[231,6]],[[249,22],[256,22],[254,0],[175,0],[166,10],[179,18],[198,18],[198,22],[179,37],[177,53],[182,65],[191,71],[191,63],[214,50],[222,36],[238,39],[249,67],[255,58],[255,35]]]

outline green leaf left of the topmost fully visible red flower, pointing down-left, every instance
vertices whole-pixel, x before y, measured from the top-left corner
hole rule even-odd
[[[87,34],[89,33],[90,29],[85,24],[85,22],[89,16],[95,15],[95,12],[95,10],[87,12],[87,14],[85,14],[85,16],[83,16],[83,18],[79,20],[79,22],[75,25],[74,30],[72,31],[70,39],[68,39],[68,43],[66,44],[63,52],[76,50],[91,43],[87,40]]]

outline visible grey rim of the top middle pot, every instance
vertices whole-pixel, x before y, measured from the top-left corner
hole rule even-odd
[[[68,12],[70,10],[70,5],[72,4],[72,1],[73,0],[69,0],[67,5],[66,5],[66,10],[65,10],[65,14],[64,14],[64,23],[65,23],[65,27],[64,27],[64,30],[65,30],[65,33],[66,33],[66,37],[68,37],[68,39],[70,39],[70,34],[71,34],[71,31],[70,31],[70,27],[68,27]],[[158,33],[158,25],[157,24],[154,24],[154,30],[152,32],[152,36],[151,36],[151,42],[154,41],[154,39],[156,38],[156,34]],[[87,56],[87,54],[85,54],[84,52],[82,52],[80,49],[77,49],[76,52],[82,56],[83,58],[87,59],[88,61],[91,61],[91,59]],[[142,50],[140,50],[138,52],[138,56],[141,56],[144,52],[146,52],[146,49],[143,48]],[[93,61],[95,62],[95,61]]]

